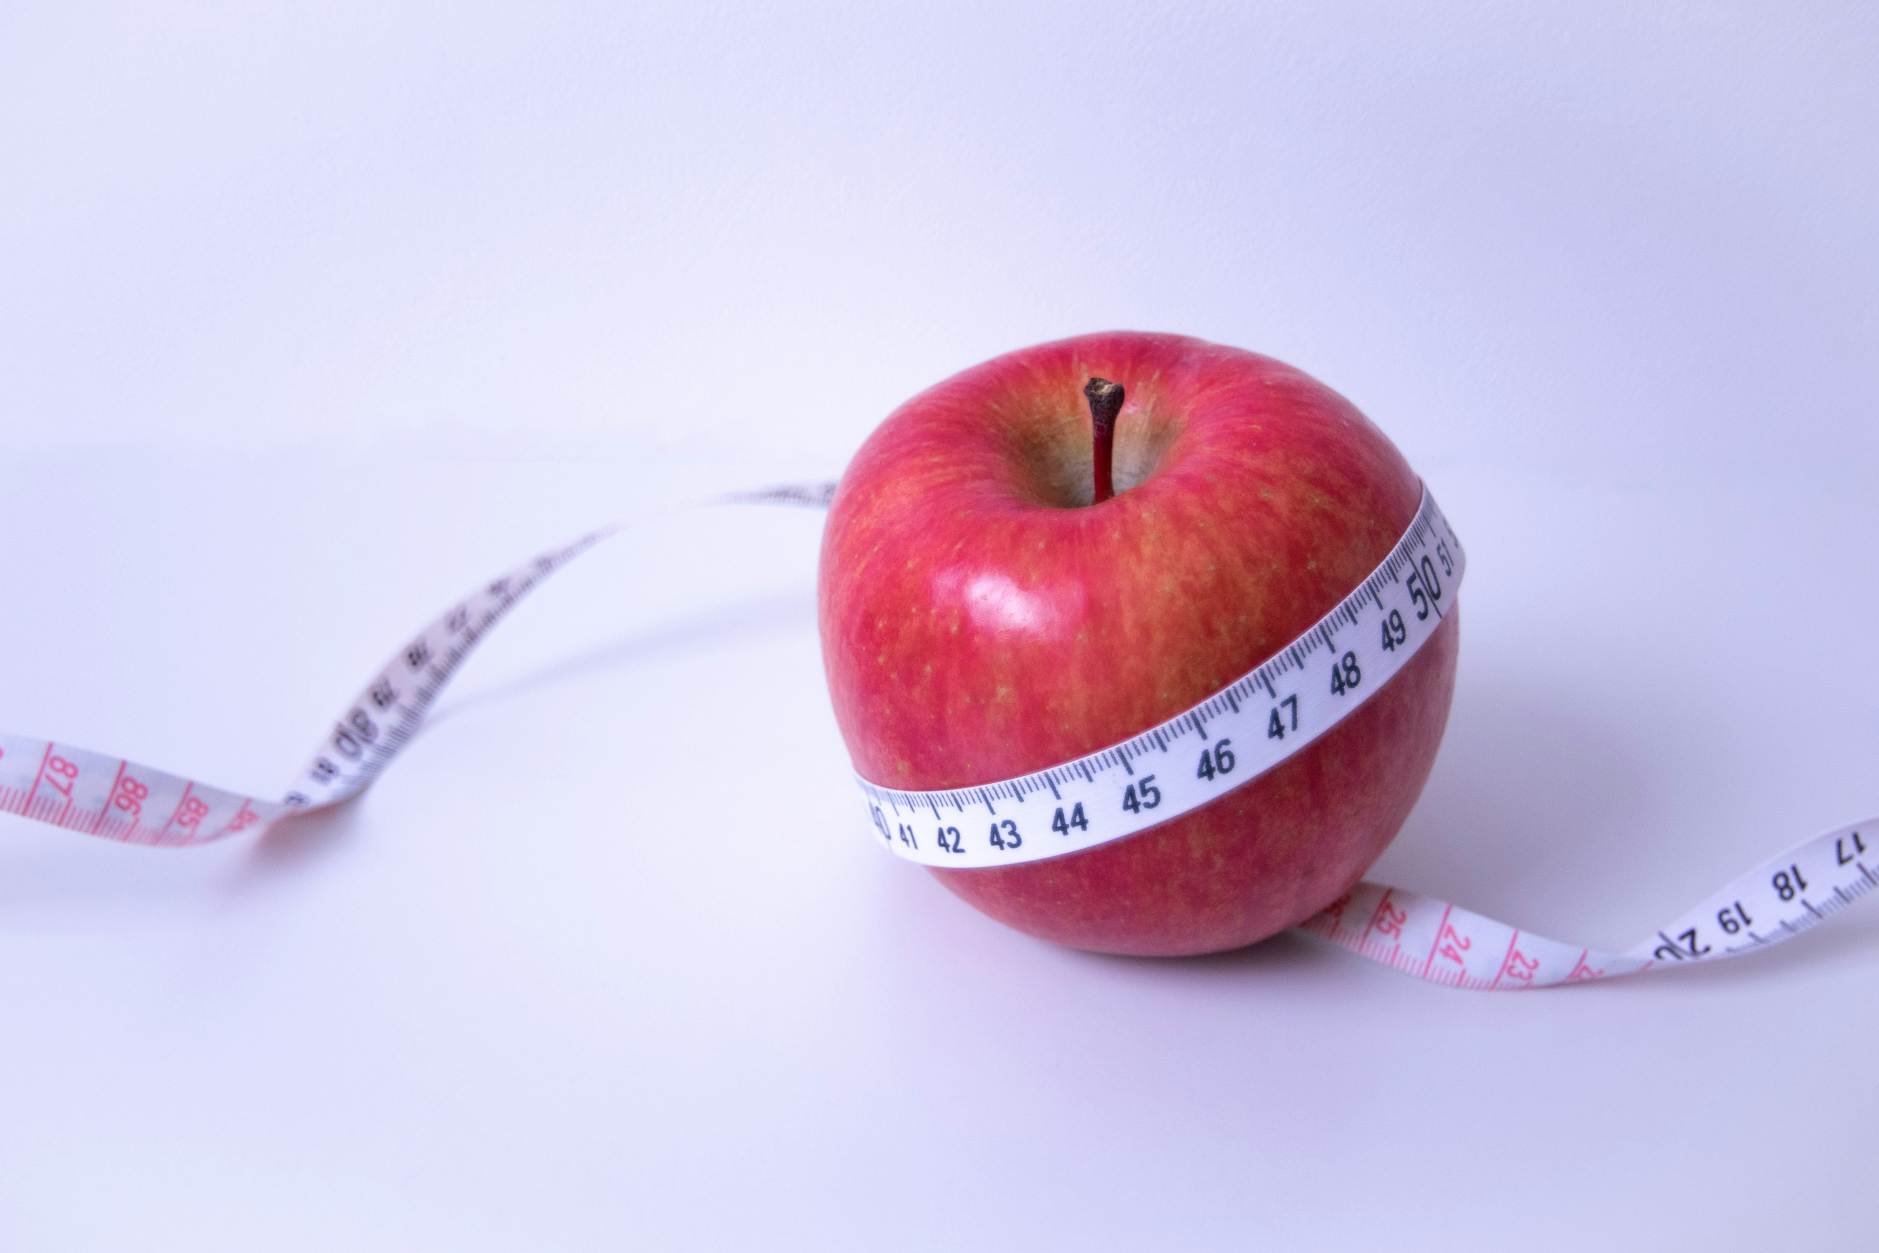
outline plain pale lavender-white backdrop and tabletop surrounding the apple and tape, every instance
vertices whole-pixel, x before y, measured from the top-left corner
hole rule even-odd
[[[4,8],[0,719],[272,793],[502,564],[1186,331],[1469,545],[1372,877],[1625,945],[1879,812],[1879,24],[1637,8]],[[0,819],[0,1247],[1871,1247],[1879,911],[1531,996],[1033,943],[870,845],[817,528],[586,558],[331,817]]]

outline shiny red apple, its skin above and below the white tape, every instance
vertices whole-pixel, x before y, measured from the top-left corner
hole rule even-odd
[[[1099,503],[1092,378],[1126,389]],[[868,438],[823,535],[823,663],[855,768],[964,787],[1172,718],[1357,588],[1421,490],[1351,402],[1236,348],[1088,334],[956,374]],[[1101,952],[1216,952],[1293,926],[1357,883],[1422,791],[1456,631],[1451,612],[1349,718],[1199,810],[932,874],[1002,922]]]

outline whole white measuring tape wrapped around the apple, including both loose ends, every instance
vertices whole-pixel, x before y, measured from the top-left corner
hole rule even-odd
[[[834,483],[644,511],[481,584],[417,633],[333,723],[280,800],[246,797],[70,744],[0,735],[0,812],[92,836],[182,847],[334,806],[365,791],[421,727],[490,629],[549,575],[629,526],[699,505],[827,509]],[[1011,866],[1122,840],[1188,813],[1325,735],[1400,671],[1454,605],[1466,556],[1424,490],[1402,539],[1343,603],[1265,665],[1142,735],[1015,780],[921,793],[857,776],[887,847],[928,866]],[[979,834],[985,827],[985,834]],[[1563,945],[1458,905],[1359,883],[1300,930],[1458,988],[1541,988],[1766,949],[1879,887],[1879,819],[1757,866],[1625,954]]]

